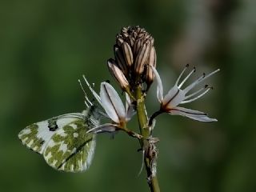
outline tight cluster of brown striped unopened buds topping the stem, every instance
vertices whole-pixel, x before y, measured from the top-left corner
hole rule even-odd
[[[122,90],[133,92],[134,86],[144,82],[148,90],[154,81],[153,70],[148,66],[156,66],[154,38],[139,26],[123,27],[116,37],[114,58],[107,65]]]

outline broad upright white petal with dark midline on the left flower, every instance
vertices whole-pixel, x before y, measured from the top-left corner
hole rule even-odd
[[[113,86],[107,82],[102,82],[100,97],[106,114],[108,114],[114,122],[120,122],[120,120],[126,119],[125,107]]]

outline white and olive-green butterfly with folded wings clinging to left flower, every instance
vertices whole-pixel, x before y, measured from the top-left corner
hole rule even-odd
[[[86,100],[87,109],[82,113],[62,114],[33,123],[20,131],[18,138],[30,150],[42,154],[56,170],[74,173],[87,170],[96,146],[96,134],[87,131],[99,125],[100,115],[98,106],[87,96]]]

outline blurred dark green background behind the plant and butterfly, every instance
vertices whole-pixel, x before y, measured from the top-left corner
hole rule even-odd
[[[154,130],[162,191],[256,191],[256,2],[254,0],[2,0],[0,2],[1,191],[148,191],[137,176],[138,142],[98,135],[94,161],[65,174],[18,140],[32,122],[84,109],[78,78],[114,80],[106,69],[115,34],[140,25],[154,36],[165,90],[186,63],[214,90],[187,107],[216,123],[162,115]],[[190,79],[190,82],[193,78]],[[154,86],[155,89],[155,86]],[[148,111],[158,109],[155,90]],[[134,130],[136,119],[130,123]]]

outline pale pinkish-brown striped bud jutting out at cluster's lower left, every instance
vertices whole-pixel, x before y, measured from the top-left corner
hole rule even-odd
[[[112,74],[113,77],[117,80],[117,82],[121,86],[122,90],[127,90],[129,87],[129,82],[126,79],[126,76],[122,73],[122,70],[120,70],[118,68],[118,66],[113,58],[110,58],[107,61],[107,66],[110,70],[110,74]]]

